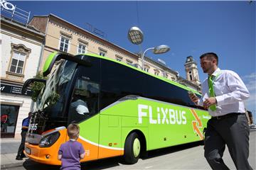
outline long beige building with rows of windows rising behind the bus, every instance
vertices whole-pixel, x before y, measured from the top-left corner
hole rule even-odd
[[[53,14],[33,16],[29,25],[46,34],[41,69],[48,55],[54,51],[68,52],[71,55],[89,52],[134,66],[142,65],[139,55],[114,45],[112,42],[104,40]],[[145,57],[145,71],[175,81],[178,79],[177,72],[166,67],[164,64],[151,60],[149,57]]]

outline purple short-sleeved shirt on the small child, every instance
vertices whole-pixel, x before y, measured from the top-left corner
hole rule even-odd
[[[68,141],[60,146],[58,154],[62,154],[60,169],[80,170],[80,154],[85,153],[82,144],[77,141]]]

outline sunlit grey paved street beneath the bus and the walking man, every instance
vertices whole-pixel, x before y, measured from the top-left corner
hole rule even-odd
[[[256,169],[256,130],[250,133],[250,157],[249,162],[253,169]],[[224,161],[230,167],[235,169],[233,162],[228,154],[228,149],[225,150]],[[59,169],[60,166],[48,166],[38,164],[26,159],[23,164],[12,166],[12,170],[43,170],[43,169]],[[167,149],[159,149],[151,151],[148,157],[139,159],[137,164],[127,165],[120,158],[103,159],[97,162],[89,162],[82,164],[82,169],[210,169],[206,159],[203,157],[203,146],[198,143],[182,145],[178,147],[169,147]]]

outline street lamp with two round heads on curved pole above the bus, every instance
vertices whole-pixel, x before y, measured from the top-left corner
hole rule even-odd
[[[136,45],[141,45],[143,42],[143,33],[138,27],[132,27],[128,31],[128,39],[130,42]],[[153,50],[155,55],[169,52],[170,47],[168,45],[159,45],[157,47],[150,47],[142,53],[142,70],[144,70],[144,55],[148,50]]]

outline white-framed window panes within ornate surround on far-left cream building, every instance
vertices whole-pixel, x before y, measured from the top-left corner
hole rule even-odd
[[[26,59],[26,54],[14,51],[14,55],[11,58],[11,66],[10,66],[9,72],[22,74],[25,59]]]

